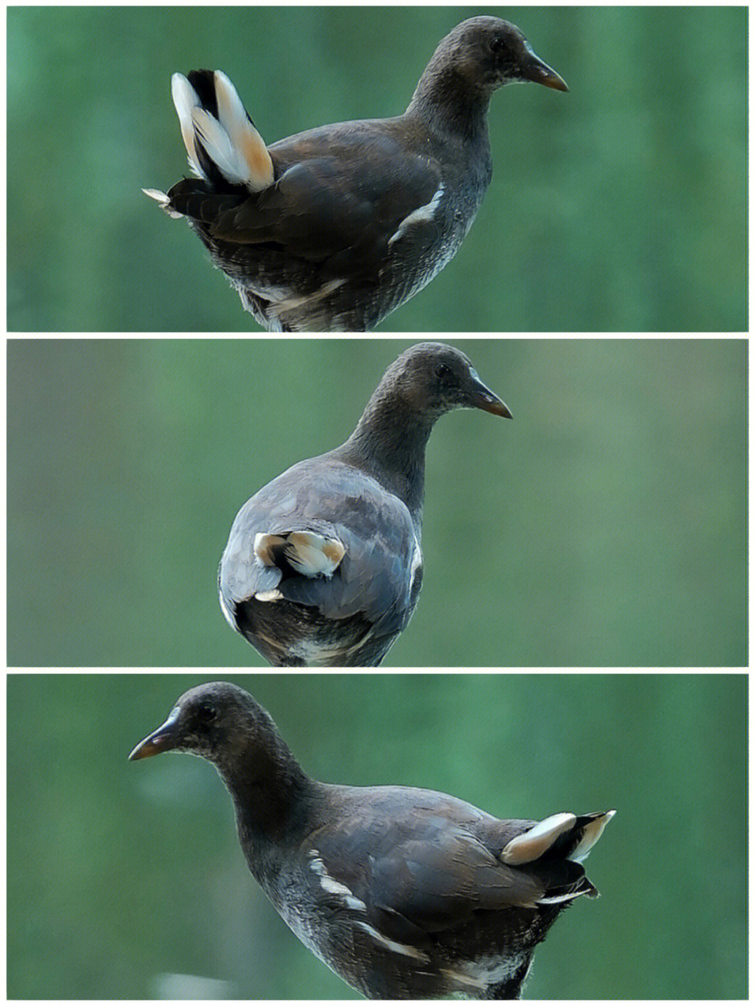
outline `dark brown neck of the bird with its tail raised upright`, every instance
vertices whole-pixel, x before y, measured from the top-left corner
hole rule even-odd
[[[434,63],[430,60],[419,78],[406,115],[420,119],[434,133],[477,141],[489,149],[490,93],[470,86],[455,67]]]

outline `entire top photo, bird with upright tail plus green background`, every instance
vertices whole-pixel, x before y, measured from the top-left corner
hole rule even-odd
[[[447,102],[425,88],[429,112],[400,118],[479,13],[515,33],[464,43]],[[294,329],[747,328],[742,6],[11,7],[7,32],[11,331],[259,332],[213,258]],[[172,75],[201,67],[259,131],[227,113],[230,165],[217,138],[199,165],[190,140],[207,190],[171,100]],[[550,86],[491,92],[512,79]],[[195,82],[185,122],[214,109]],[[209,250],[142,192],[176,185],[171,212]]]

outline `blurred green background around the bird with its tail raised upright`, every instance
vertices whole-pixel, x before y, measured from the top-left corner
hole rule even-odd
[[[743,331],[742,7],[11,7],[8,327],[256,331],[145,198],[188,171],[170,75],[224,69],[268,141],[403,112],[436,43],[502,14],[571,94],[494,96],[463,248],[383,331]]]

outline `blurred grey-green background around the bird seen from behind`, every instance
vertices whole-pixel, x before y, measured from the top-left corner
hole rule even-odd
[[[12,666],[265,666],[215,576],[236,511],[353,430],[405,340],[11,340]],[[438,423],[387,666],[740,666],[740,340],[460,340],[513,422]]]

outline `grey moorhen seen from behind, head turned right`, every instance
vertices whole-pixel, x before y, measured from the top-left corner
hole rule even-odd
[[[424,454],[453,408],[511,418],[469,358],[422,342],[394,360],[340,447],[241,507],[218,574],[232,629],[274,666],[377,667],[422,582]]]

